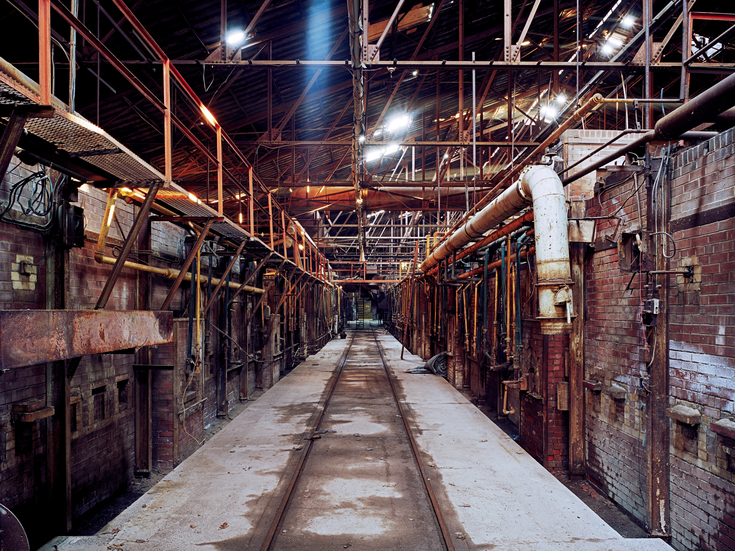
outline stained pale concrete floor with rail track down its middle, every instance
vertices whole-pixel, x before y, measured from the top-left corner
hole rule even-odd
[[[42,550],[668,548],[623,539],[444,378],[406,372],[418,356],[400,356],[377,322],[348,329],[96,536]]]

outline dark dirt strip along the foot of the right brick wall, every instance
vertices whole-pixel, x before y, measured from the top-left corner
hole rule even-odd
[[[518,428],[507,417],[501,415],[484,404],[478,403],[476,397],[468,392],[462,392],[462,395],[470,400],[477,408],[484,413],[488,419],[498,425],[508,436],[518,441]],[[610,525],[613,530],[623,536],[623,538],[648,538],[648,532],[618,505],[609,500],[604,494],[600,494],[600,489],[592,485],[588,480],[570,480],[569,473],[562,472],[555,475],[559,482],[567,486],[573,494],[584,502],[592,511],[598,514],[600,519]]]

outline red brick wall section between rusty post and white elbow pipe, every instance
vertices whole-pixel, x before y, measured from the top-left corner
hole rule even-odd
[[[641,224],[633,190],[632,179],[606,187],[601,197],[587,201],[587,215],[612,214],[631,197],[617,214],[623,217],[623,231],[637,230]],[[639,192],[645,213],[645,188]],[[604,242],[603,236],[612,234],[613,229],[613,221],[598,220],[595,241]],[[644,344],[639,276],[631,284],[632,290],[624,294],[631,274],[620,271],[614,247],[587,255],[584,278],[584,377],[604,386],[603,392],[584,391],[587,472],[608,497],[645,522],[645,411],[636,394],[637,378],[644,370],[638,361],[638,347]],[[609,394],[612,385],[625,389],[625,399],[615,400]]]

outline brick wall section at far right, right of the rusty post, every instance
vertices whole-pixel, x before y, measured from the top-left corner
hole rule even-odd
[[[735,549],[735,465],[711,431],[735,419],[735,145],[733,130],[673,157],[669,278],[670,405],[702,413],[700,425],[670,419],[671,531],[679,550]],[[684,429],[684,430],[682,430]],[[689,429],[689,430],[687,430]]]

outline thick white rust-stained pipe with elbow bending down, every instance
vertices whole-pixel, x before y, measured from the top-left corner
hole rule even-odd
[[[531,203],[534,205],[541,332],[567,333],[571,329],[567,323],[567,303],[571,301],[569,286],[572,284],[567,241],[567,203],[562,181],[550,166],[531,165],[525,168],[519,180],[431,253],[421,264],[421,270],[428,272],[454,251],[459,251]],[[559,300],[562,301],[561,306],[557,304]]]

